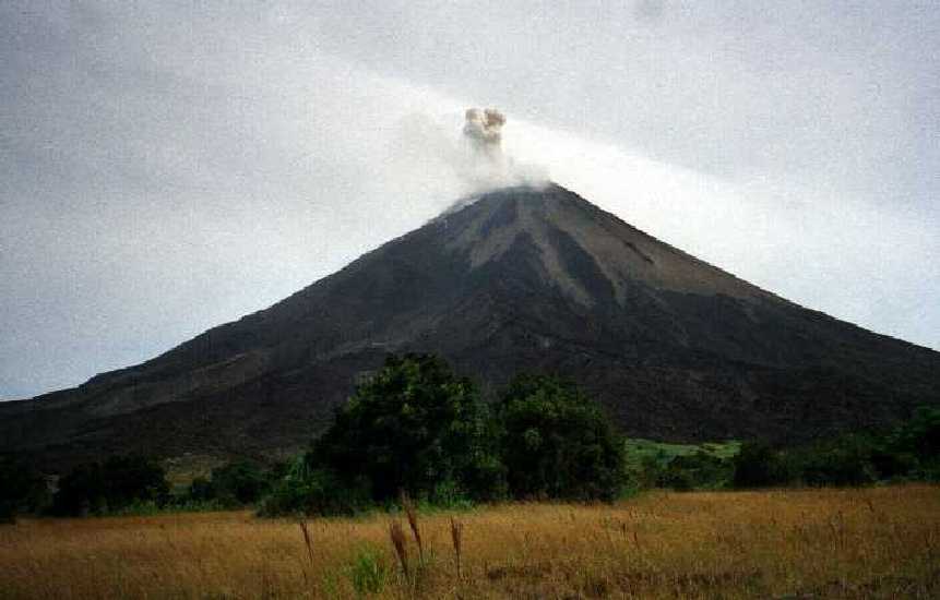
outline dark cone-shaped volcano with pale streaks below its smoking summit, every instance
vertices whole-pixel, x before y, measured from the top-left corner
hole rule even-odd
[[[391,353],[487,397],[557,373],[624,433],[802,442],[940,400],[940,353],[798,307],[555,184],[483,194],[136,367],[0,404],[0,449],[264,456],[306,445]]]

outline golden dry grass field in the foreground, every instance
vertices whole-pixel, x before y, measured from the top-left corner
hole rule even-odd
[[[391,520],[408,536],[407,578]],[[424,561],[407,519],[384,514],[310,520],[309,544],[299,523],[247,512],[21,520],[0,527],[0,597],[940,597],[940,488],[929,485],[651,492],[418,525]]]

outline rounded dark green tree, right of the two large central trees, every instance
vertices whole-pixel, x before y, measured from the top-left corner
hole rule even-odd
[[[622,444],[598,404],[551,376],[517,377],[499,403],[515,497],[606,500],[623,483]]]

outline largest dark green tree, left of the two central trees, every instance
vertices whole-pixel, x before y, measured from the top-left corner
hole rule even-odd
[[[308,461],[378,502],[400,491],[433,500],[454,487],[489,499],[503,480],[490,428],[476,386],[441,359],[391,356],[336,412]]]

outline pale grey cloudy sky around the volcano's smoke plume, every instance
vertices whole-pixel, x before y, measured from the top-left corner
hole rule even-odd
[[[463,111],[632,225],[940,349],[940,4],[0,3],[0,398],[261,310],[479,191]]]

